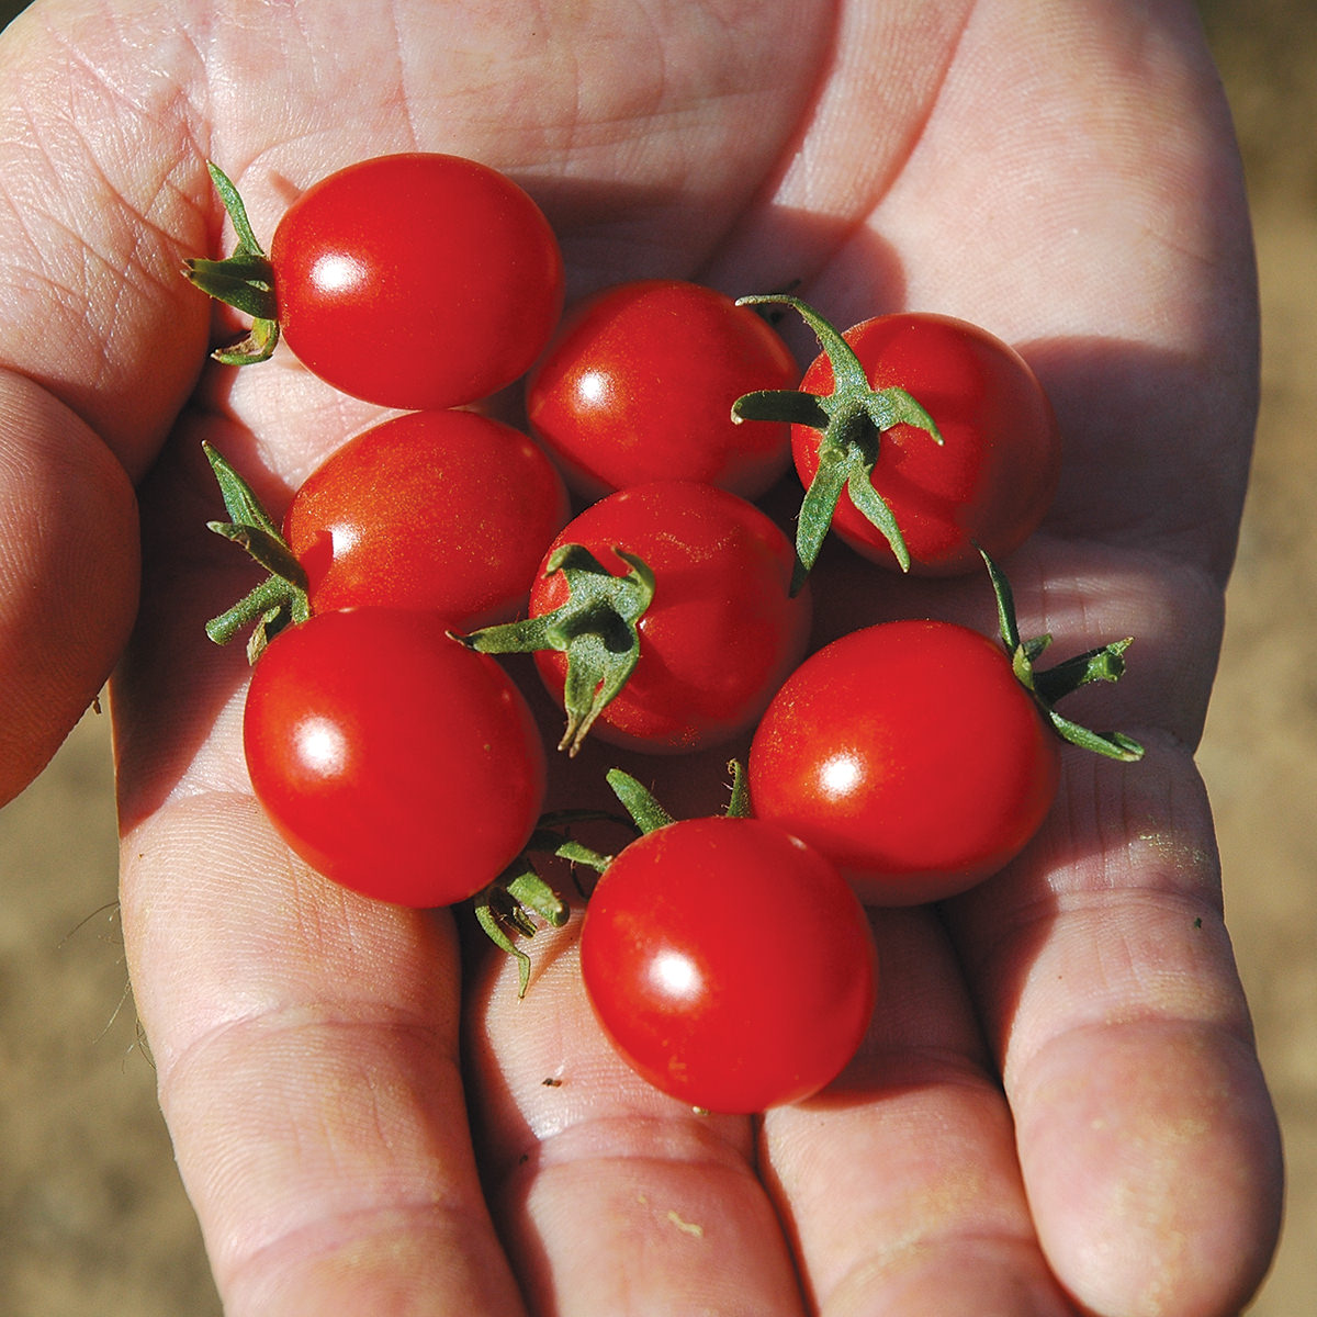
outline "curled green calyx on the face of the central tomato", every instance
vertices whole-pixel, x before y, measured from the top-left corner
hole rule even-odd
[[[545,565],[561,572],[568,602],[553,612],[522,622],[485,627],[462,644],[479,653],[533,653],[557,649],[568,656],[562,705],[568,724],[558,749],[576,755],[594,720],[627,684],[640,658],[637,623],[649,607],[655,577],[644,560],[626,549],[612,551],[628,572],[614,576],[581,544],[564,544]]]

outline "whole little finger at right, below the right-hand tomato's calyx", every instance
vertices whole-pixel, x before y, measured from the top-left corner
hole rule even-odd
[[[1069,756],[1039,842],[951,909],[1060,1280],[1094,1313],[1238,1312],[1280,1154],[1189,756]]]

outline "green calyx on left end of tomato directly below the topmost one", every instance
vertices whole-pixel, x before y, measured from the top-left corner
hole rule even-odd
[[[307,574],[246,481],[209,444],[203,444],[202,449],[215,471],[224,508],[229,514],[228,522],[207,522],[207,527],[246,549],[269,573],[232,608],[212,618],[205,624],[205,633],[217,645],[224,645],[250,628],[248,661],[255,662],[284,627],[311,616]]]

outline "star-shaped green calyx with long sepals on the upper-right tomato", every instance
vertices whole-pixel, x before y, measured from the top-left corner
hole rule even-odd
[[[832,366],[832,392],[810,394],[799,389],[766,389],[745,394],[732,403],[732,419],[774,420],[810,425],[819,431],[819,468],[805,491],[795,531],[795,570],[792,594],[797,594],[814,566],[838,500],[844,490],[851,502],[886,539],[901,569],[910,569],[910,551],[886,499],[873,487],[873,466],[884,431],[913,425],[935,444],[938,425],[927,411],[900,387],[873,389],[860,358],[842,333],[813,307],[789,294],[755,294],[739,298],[738,306],[780,302],[799,312],[814,331]]]

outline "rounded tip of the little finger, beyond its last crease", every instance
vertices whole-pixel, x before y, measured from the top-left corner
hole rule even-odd
[[[1022,1121],[1043,1250],[1085,1312],[1238,1313],[1280,1231],[1280,1141],[1256,1058],[1209,1026],[1119,1033],[1098,1073],[1084,1039],[1075,1064],[1058,1044],[1044,1068],[1060,1088]]]

